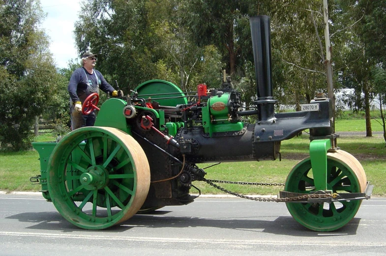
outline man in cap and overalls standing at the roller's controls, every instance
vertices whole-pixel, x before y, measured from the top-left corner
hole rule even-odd
[[[113,97],[123,96],[122,91],[117,91],[111,86],[102,74],[94,69],[96,55],[86,52],[82,55],[80,67],[72,73],[68,83],[70,93],[71,130],[84,126],[93,126],[96,120],[95,110],[88,115],[82,114],[82,104],[86,98],[99,89],[110,93]]]

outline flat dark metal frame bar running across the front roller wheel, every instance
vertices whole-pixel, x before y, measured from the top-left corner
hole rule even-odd
[[[335,198],[309,198],[309,199],[298,199],[291,200],[291,202],[297,203],[322,203],[322,202],[336,202],[336,201],[347,201],[347,200],[361,200],[361,199],[370,199],[373,192],[374,185],[371,185],[370,182],[367,182],[366,190],[364,193],[341,193],[336,194]],[[324,194],[324,191],[311,192],[310,194],[303,193],[293,193],[287,191],[280,191],[279,198],[294,198],[312,194]],[[328,191],[330,193],[330,191]]]

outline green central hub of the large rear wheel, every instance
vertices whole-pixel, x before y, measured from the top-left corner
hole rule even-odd
[[[80,182],[87,190],[102,189],[108,181],[108,171],[102,166],[91,166],[80,176]]]

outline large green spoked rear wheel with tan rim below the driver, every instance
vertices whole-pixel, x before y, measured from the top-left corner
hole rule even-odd
[[[132,217],[150,185],[141,146],[111,127],[83,127],[66,135],[51,154],[48,172],[55,207],[85,229],[109,228]]]

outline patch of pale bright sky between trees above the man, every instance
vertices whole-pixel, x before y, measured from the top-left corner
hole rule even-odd
[[[50,51],[59,68],[67,67],[71,58],[79,60],[75,48],[74,23],[78,20],[81,0],[40,0],[47,17],[42,23],[51,39]]]

